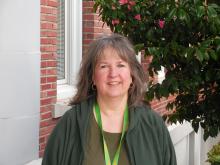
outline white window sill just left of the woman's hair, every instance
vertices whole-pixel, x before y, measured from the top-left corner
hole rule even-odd
[[[57,102],[52,114],[53,118],[63,116],[63,114],[71,108],[68,104],[75,93],[76,89],[73,86],[67,84],[57,86]]]

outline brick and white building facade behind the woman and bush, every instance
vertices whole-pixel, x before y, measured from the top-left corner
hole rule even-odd
[[[51,131],[70,108],[89,43],[111,33],[94,13],[93,4],[88,0],[0,2],[0,164],[23,165],[43,156]],[[150,58],[139,59],[147,71]],[[165,113],[171,99],[152,101],[152,109]],[[202,134],[195,134],[187,123],[169,130],[178,165],[205,164],[206,151],[220,139],[204,143]]]

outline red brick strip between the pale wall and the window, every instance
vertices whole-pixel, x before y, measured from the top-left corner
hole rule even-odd
[[[43,155],[48,136],[56,124],[52,111],[56,102],[57,1],[41,0],[41,107],[39,155]]]

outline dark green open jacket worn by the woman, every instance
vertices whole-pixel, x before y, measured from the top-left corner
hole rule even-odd
[[[82,165],[86,133],[95,99],[67,111],[53,130],[42,165]],[[147,107],[129,109],[125,142],[131,165],[176,165],[169,132],[162,118]]]

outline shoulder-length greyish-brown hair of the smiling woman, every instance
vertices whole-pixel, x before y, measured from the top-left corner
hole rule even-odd
[[[89,96],[96,95],[92,77],[97,60],[106,48],[113,48],[120,58],[129,64],[133,84],[128,91],[128,105],[136,106],[142,103],[146,79],[143,68],[136,59],[133,45],[126,37],[119,34],[111,34],[94,40],[90,44],[87,53],[83,56],[76,86],[77,93],[72,98],[70,105],[79,103]]]

